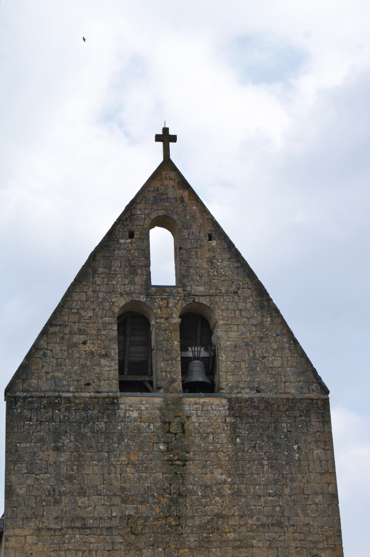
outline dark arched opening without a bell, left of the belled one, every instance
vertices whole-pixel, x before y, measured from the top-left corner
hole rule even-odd
[[[153,392],[150,323],[137,311],[117,317],[121,393]]]

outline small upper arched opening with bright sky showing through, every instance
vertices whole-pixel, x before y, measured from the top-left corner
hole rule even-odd
[[[174,237],[158,226],[150,231],[150,274],[152,285],[176,285]]]

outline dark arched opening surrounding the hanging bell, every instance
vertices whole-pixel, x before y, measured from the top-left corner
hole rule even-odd
[[[194,349],[195,346],[198,346],[197,350]],[[215,348],[212,344],[212,329],[203,315],[185,312],[181,316],[180,351],[182,390],[188,393],[214,393]],[[209,384],[189,383],[189,364],[194,359],[203,362]]]

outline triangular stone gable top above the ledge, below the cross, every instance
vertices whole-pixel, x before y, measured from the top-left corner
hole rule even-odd
[[[174,236],[176,286],[151,285],[154,226]],[[211,328],[215,392],[328,394],[255,273],[169,157],[88,257],[6,393],[117,392],[124,373],[117,317],[130,312],[150,323],[146,384],[153,391],[181,392],[180,323],[191,313]]]

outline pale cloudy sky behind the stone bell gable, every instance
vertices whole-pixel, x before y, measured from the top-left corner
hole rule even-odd
[[[330,389],[346,557],[368,553],[369,25],[364,0],[0,4],[0,388],[161,162],[166,120]]]

